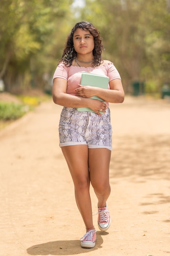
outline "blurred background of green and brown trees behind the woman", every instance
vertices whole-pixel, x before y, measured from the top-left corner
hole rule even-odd
[[[126,94],[170,96],[170,0],[1,0],[0,91],[51,94],[52,77],[75,23],[101,32]]]

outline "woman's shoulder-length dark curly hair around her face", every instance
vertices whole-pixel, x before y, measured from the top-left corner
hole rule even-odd
[[[87,21],[76,23],[70,34],[68,34],[62,58],[60,59],[59,63],[63,62],[65,65],[70,67],[72,65],[73,59],[77,56],[77,52],[73,46],[73,34],[78,28],[82,30],[88,30],[93,36],[95,47],[93,49],[94,61],[92,66],[99,66],[102,63],[102,50],[104,50],[104,45],[102,44],[102,38],[100,36],[99,30]]]

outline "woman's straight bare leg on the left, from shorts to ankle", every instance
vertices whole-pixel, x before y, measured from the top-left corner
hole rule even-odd
[[[86,228],[93,227],[90,175],[88,169],[88,147],[86,145],[64,146],[62,153],[68,164],[75,186],[75,200]]]

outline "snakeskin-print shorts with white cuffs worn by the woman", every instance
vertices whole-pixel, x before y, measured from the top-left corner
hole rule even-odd
[[[93,112],[80,112],[64,107],[59,123],[60,147],[87,145],[88,148],[112,150],[112,126],[110,110],[100,117]]]

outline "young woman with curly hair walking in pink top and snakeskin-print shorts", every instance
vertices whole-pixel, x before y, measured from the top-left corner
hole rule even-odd
[[[98,227],[110,226],[107,199],[110,195],[109,164],[112,128],[108,102],[122,103],[124,90],[120,75],[110,61],[102,60],[102,39],[89,22],[77,23],[68,35],[62,58],[53,76],[53,101],[64,106],[59,124],[60,147],[68,164],[77,207],[86,227],[81,246],[93,248],[96,230],[93,225],[90,183],[98,199]],[[82,72],[109,77],[108,89],[81,86]],[[103,101],[90,99],[98,96]],[[77,111],[88,107],[93,112]],[[103,112],[102,114],[100,112]]]

